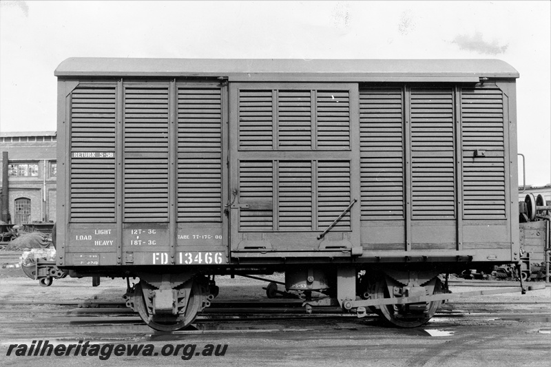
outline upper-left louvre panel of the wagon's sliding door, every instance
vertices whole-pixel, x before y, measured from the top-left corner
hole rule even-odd
[[[239,147],[271,149],[273,101],[271,90],[239,91]]]

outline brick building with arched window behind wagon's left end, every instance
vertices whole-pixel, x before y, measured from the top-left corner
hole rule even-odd
[[[1,212],[7,209],[14,224],[54,222],[56,132],[0,133],[3,151],[8,152],[8,203],[1,203]]]

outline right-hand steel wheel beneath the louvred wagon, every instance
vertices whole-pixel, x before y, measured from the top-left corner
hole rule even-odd
[[[442,293],[442,284],[436,278],[433,294]],[[390,298],[386,280],[382,279],[375,285],[373,298]],[[422,302],[417,304],[388,304],[380,306],[379,315],[382,315],[387,322],[401,328],[415,328],[426,324],[436,313],[441,301]]]

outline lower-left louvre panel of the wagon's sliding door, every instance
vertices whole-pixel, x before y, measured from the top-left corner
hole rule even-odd
[[[240,203],[273,203],[273,164],[271,160],[239,162]],[[273,209],[240,209],[240,231],[271,231]]]

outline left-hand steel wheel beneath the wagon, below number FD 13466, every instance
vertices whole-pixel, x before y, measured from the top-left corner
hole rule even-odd
[[[143,281],[142,281],[143,282]],[[191,295],[185,307],[185,312],[179,315],[153,315],[152,308],[148,307],[143,294],[143,284],[139,282],[134,287],[132,301],[134,309],[143,319],[145,324],[156,331],[178,331],[194,322],[197,313],[202,309],[203,301],[206,300],[202,287],[198,282],[191,280]],[[147,286],[147,285],[146,285]]]

